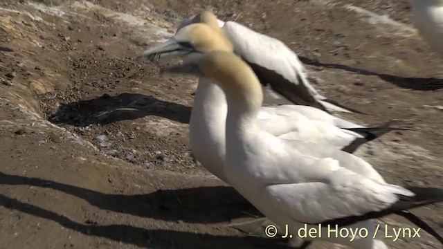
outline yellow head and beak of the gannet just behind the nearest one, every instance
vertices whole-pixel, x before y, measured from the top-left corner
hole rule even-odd
[[[190,24],[163,44],[145,50],[138,56],[138,60],[189,57],[196,53],[208,53],[214,50],[232,52],[233,44],[224,33],[217,32],[207,24]]]

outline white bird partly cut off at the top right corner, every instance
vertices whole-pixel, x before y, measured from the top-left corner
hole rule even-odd
[[[443,0],[413,0],[415,28],[437,53],[443,55]]]

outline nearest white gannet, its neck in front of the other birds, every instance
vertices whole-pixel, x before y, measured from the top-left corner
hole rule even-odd
[[[353,154],[327,144],[282,140],[263,131],[256,122],[263,101],[260,81],[237,55],[195,53],[187,62],[164,71],[210,77],[221,86],[228,102],[226,177],[267,218],[280,228],[287,225],[289,234],[297,234],[305,224],[308,230],[318,229],[318,224],[347,231],[364,229],[354,239],[323,233],[323,237],[306,240],[356,249],[388,248],[374,239],[377,228],[370,219],[399,214],[443,243],[443,237],[407,211],[443,201],[443,189],[391,185]]]

